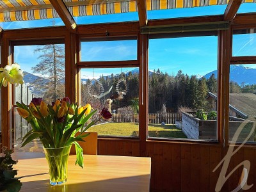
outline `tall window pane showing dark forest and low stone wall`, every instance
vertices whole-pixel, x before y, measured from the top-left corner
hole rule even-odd
[[[149,40],[148,137],[217,139],[217,44],[217,36]]]

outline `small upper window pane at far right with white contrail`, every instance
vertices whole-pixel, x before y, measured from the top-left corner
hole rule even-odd
[[[256,55],[256,28],[233,31],[232,56]]]

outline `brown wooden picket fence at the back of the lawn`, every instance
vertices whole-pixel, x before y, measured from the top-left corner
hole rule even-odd
[[[113,114],[111,121],[115,123],[125,123],[132,122],[138,123],[139,115],[138,114]],[[175,120],[181,120],[179,113],[167,113],[167,117],[164,120],[165,124],[175,124]],[[159,113],[149,113],[148,114],[148,123],[149,124],[161,124],[163,122],[161,115]]]

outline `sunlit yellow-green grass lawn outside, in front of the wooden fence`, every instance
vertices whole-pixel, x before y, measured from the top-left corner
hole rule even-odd
[[[107,123],[90,127],[88,131],[108,136],[138,136],[139,125],[134,123]],[[187,138],[175,125],[148,124],[148,136],[161,138]]]

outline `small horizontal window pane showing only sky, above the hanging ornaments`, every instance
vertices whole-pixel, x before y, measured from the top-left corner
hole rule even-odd
[[[137,40],[81,43],[81,61],[137,60]]]

